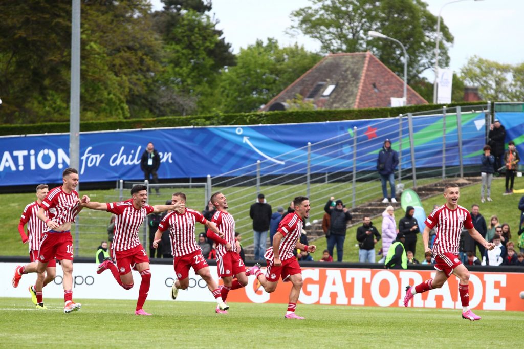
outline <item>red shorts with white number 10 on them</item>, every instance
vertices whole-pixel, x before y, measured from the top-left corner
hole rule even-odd
[[[38,250],[39,261],[47,263],[54,258],[57,260],[73,260],[73,257],[73,238],[69,231],[43,233]]]

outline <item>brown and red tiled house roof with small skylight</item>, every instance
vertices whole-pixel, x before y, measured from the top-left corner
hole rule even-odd
[[[330,85],[334,85],[332,92],[325,95]],[[369,51],[330,53],[261,110],[268,111],[275,103],[285,103],[297,94],[323,109],[388,107],[390,97],[402,97],[403,80]],[[428,103],[409,86],[407,99],[408,105]]]

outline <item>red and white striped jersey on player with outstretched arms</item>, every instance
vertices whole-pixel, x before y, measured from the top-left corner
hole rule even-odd
[[[121,202],[108,202],[107,212],[116,214],[115,235],[111,249],[125,251],[140,244],[138,230],[144,223],[144,219],[153,213],[152,206],[145,204],[143,208],[137,210],[133,206],[133,199]]]

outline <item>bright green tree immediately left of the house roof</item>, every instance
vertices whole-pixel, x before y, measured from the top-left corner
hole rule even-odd
[[[295,44],[280,48],[278,41],[257,40],[240,50],[237,65],[223,73],[221,111],[224,113],[257,110],[297,80],[322,57]]]

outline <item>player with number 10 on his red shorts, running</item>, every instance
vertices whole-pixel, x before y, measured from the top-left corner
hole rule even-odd
[[[74,168],[65,169],[62,173],[62,182],[61,187],[49,191],[36,214],[47,226],[38,248],[38,262],[18,266],[12,282],[13,286],[17,287],[23,274],[38,272],[43,275],[48,265],[54,263],[55,258],[60,260],[63,270],[64,313],[70,313],[82,307],[82,304],[73,302],[73,238],[70,232],[71,223],[82,210],[76,190],[78,171]],[[84,196],[83,200],[89,201],[89,197]],[[43,281],[43,276],[37,278],[34,287],[37,303],[41,308],[43,308]]]

